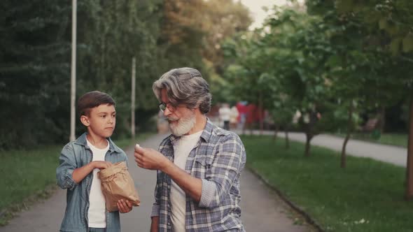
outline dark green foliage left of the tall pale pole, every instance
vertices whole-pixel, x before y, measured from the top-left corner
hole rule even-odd
[[[2,1],[0,150],[68,138],[70,10],[64,2]]]

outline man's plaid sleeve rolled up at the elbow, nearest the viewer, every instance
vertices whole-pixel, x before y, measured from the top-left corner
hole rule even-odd
[[[218,146],[215,156],[206,178],[202,179],[199,206],[203,208],[216,208],[221,205],[239,177],[246,160],[244,145],[236,135],[225,138]]]

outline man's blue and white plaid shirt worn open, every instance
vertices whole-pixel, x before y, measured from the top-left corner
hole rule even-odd
[[[174,161],[179,137],[162,140],[160,152]],[[202,180],[199,203],[186,195],[186,231],[245,231],[240,216],[239,176],[246,153],[237,134],[214,126],[209,119],[200,140],[186,161],[186,172]],[[159,230],[172,231],[171,178],[158,171],[151,217],[159,217]]]

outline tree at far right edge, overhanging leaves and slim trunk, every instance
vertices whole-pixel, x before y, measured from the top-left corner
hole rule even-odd
[[[337,8],[342,12],[360,15],[363,22],[372,31],[369,36],[378,35],[377,37],[383,41],[381,46],[392,52],[395,61],[398,62],[398,65],[395,65],[397,67],[395,70],[404,71],[403,73],[395,71],[395,77],[403,87],[394,93],[397,98],[400,95],[396,93],[402,92],[401,89],[406,89],[407,92],[403,94],[403,97],[407,96],[410,101],[405,196],[411,200],[413,199],[413,75],[411,71],[413,64],[413,2],[409,0],[366,2],[339,0],[335,2]],[[384,36],[381,32],[385,33]]]

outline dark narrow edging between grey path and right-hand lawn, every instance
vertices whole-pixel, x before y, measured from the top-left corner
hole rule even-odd
[[[281,198],[281,200],[284,201],[285,203],[287,203],[288,205],[290,205],[290,207],[293,208],[293,210],[295,210],[295,212],[302,215],[302,217],[304,217],[304,219],[307,221],[308,224],[311,224],[312,226],[314,226],[314,228],[316,228],[318,232],[325,232],[321,228],[321,226],[307,214],[307,212],[305,212],[298,205],[295,205],[295,203],[290,201],[286,196],[283,195],[283,193],[279,189],[274,187],[274,185],[269,184],[268,180],[265,179],[265,177],[262,177],[262,175],[260,175],[257,171],[255,171],[251,167],[246,166],[246,168],[248,169],[248,171],[253,173],[253,175],[258,177],[258,179],[260,179],[263,183],[265,183],[267,185],[267,187],[269,187],[269,189],[272,189],[273,191],[275,191],[276,194]]]

